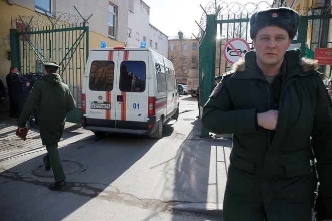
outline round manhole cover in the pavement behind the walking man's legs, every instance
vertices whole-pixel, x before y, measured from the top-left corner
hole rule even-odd
[[[63,160],[61,161],[62,168],[65,175],[75,173],[83,168],[83,164],[75,162],[75,161],[69,161],[69,160]],[[38,169],[33,171],[36,175],[43,176],[43,177],[53,177],[53,171],[45,170],[45,166],[41,166]]]

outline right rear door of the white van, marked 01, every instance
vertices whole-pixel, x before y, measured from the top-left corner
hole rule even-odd
[[[116,128],[147,130],[148,51],[121,50],[118,53]]]

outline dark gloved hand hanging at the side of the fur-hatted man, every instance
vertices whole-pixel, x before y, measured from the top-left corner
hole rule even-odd
[[[317,212],[317,220],[332,219],[332,198],[326,197],[318,193],[314,210]]]

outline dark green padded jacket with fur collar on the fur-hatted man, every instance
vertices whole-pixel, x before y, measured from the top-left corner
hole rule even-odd
[[[300,59],[299,54],[299,50],[285,54],[286,72],[275,131],[259,127],[257,123],[257,113],[273,109],[273,103],[271,86],[257,68],[255,51],[247,52],[223,76],[203,107],[202,123],[210,132],[233,134],[230,165],[264,180],[310,175],[313,150],[320,183],[318,190],[332,197],[331,100],[316,71],[318,65],[313,60]],[[232,179],[229,183],[242,182],[236,177]],[[251,186],[250,183],[242,185]],[[262,188],[265,188],[263,184]],[[311,194],[300,192],[303,189],[298,186],[291,188],[294,191],[289,196],[296,195],[296,191],[299,196]],[[277,191],[274,194],[278,198]]]

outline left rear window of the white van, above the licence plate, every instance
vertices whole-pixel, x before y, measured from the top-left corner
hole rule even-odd
[[[113,89],[114,62],[93,61],[90,68],[90,90],[111,91]]]

